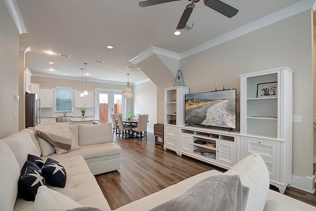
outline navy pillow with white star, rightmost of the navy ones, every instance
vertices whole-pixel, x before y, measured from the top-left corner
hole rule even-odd
[[[58,161],[47,158],[45,165],[41,168],[43,176],[50,185],[64,188],[66,184],[66,170]]]

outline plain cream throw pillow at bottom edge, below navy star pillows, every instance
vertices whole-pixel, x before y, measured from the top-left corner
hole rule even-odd
[[[65,211],[82,207],[68,196],[49,189],[43,185],[39,187],[32,211]]]

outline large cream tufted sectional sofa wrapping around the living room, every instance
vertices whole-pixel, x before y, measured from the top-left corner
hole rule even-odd
[[[49,184],[40,186],[35,202],[26,201],[18,196],[17,188],[21,168],[27,160],[28,154],[40,156],[42,153],[41,150],[39,150],[40,144],[35,136],[34,130],[24,129],[18,133],[0,139],[0,169],[2,171],[0,177],[1,211],[62,211],[80,207],[90,207],[88,210],[93,210],[93,208],[102,211],[111,210],[93,176],[93,173],[91,173],[91,171],[94,171],[94,174],[96,174],[100,171],[106,172],[108,169],[117,169],[117,167],[106,167],[108,165],[111,166],[112,164],[113,166],[116,166],[116,156],[110,152],[104,151],[101,153],[99,151],[102,149],[111,149],[113,151],[117,150],[116,152],[120,153],[119,149],[112,146],[113,139],[112,141],[111,138],[107,139],[110,136],[113,138],[112,131],[110,131],[111,127],[109,125],[99,126],[96,131],[94,129],[98,126],[91,126],[89,131],[85,131],[87,133],[85,135],[90,135],[89,141],[91,146],[80,145],[80,138],[81,141],[83,141],[81,142],[83,144],[86,144],[87,142],[84,141],[88,140],[83,140],[85,136],[80,136],[80,131],[83,127],[76,127],[78,127],[79,132],[79,149],[59,155],[54,153],[48,156],[60,162],[66,169],[67,180],[65,187],[53,187]],[[35,130],[37,129],[43,128],[35,128]],[[71,128],[71,130],[75,131],[73,133],[76,133],[77,131],[76,128]],[[99,132],[104,132],[103,130],[106,130],[107,132],[107,138],[104,137],[104,139],[107,139],[108,142],[98,143],[100,141],[99,138],[103,137]],[[76,137],[77,135],[74,136]],[[94,146],[96,148],[94,148]],[[93,152],[95,153],[94,157],[91,156],[91,153]],[[113,158],[115,162],[111,163],[111,158]],[[256,154],[243,159],[225,173],[217,170],[209,170],[197,174],[161,191],[120,207],[117,211],[166,210],[166,206],[167,208],[178,208],[179,204],[177,203],[180,203],[182,206],[194,206],[196,208],[194,210],[198,210],[199,205],[194,205],[196,201],[194,195],[190,196],[190,200],[185,197],[186,200],[184,202],[181,201],[181,198],[186,196],[186,194],[192,190],[191,188],[196,188],[199,187],[197,185],[205,184],[203,183],[204,179],[212,181],[215,176],[224,177],[225,175],[239,175],[239,181],[241,181],[242,185],[249,188],[248,195],[246,196],[247,198],[242,198],[242,200],[246,200],[247,202],[245,207],[246,211],[316,211],[316,208],[313,206],[269,190],[268,170],[262,158]],[[221,206],[218,205],[218,196],[220,194],[218,187],[219,186],[216,186],[216,183],[214,182],[207,188],[210,189],[211,193],[215,193],[215,195],[212,195],[211,197],[211,194],[205,193],[198,195],[198,198],[206,198],[207,203],[210,203],[210,207],[215,207],[215,203],[217,203],[217,206]],[[212,188],[215,188],[215,190],[212,190]],[[230,191],[222,191],[223,196],[226,196],[226,193],[229,195]],[[217,198],[213,198],[214,196]],[[228,201],[230,201],[230,199]]]

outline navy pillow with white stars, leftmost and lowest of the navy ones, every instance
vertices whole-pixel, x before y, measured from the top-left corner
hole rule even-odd
[[[40,168],[32,162],[26,161],[18,181],[18,191],[27,201],[34,201],[41,185],[45,185],[45,179]]]

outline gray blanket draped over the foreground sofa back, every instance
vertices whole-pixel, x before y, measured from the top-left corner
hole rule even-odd
[[[238,175],[210,176],[151,211],[244,211],[248,194]]]

